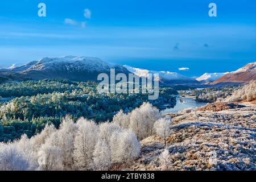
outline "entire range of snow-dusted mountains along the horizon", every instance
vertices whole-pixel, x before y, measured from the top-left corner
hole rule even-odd
[[[110,75],[110,69],[115,68],[115,73],[134,73],[139,77],[147,77],[148,74],[159,74],[156,79],[163,85],[227,85],[240,84],[256,80],[256,62],[249,63],[234,72],[205,73],[198,78],[186,77],[176,72],[149,71],[147,69],[134,68],[127,65],[110,64],[97,57],[65,56],[44,57],[37,61],[31,61],[24,65],[12,65],[0,68],[0,83],[22,80],[43,79],[68,79],[71,81],[97,81],[100,73]]]

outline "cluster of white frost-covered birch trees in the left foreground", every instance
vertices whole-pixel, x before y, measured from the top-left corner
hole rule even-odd
[[[59,129],[46,125],[42,133],[23,135],[0,146],[0,170],[106,170],[113,163],[127,166],[141,151],[133,131],[115,123],[97,125],[66,117]]]

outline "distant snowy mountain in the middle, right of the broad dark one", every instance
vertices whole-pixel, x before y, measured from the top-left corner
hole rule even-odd
[[[149,71],[147,69],[133,68],[128,65],[124,65],[129,72],[134,73],[139,77],[147,77],[149,74],[155,76],[155,74],[159,74],[159,77],[155,77],[163,84],[198,84],[199,82],[195,80],[195,78],[185,77],[175,72],[168,71]]]

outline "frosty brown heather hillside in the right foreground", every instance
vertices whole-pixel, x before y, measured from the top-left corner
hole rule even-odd
[[[256,170],[256,107],[176,114],[167,138],[168,170]],[[164,141],[142,140],[131,169],[163,170]]]

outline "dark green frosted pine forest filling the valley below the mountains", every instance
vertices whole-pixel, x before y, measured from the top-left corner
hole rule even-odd
[[[182,86],[161,87],[158,100],[149,102],[158,109],[175,105],[178,89]],[[118,111],[129,113],[147,98],[147,94],[98,94],[96,82],[53,79],[1,84],[0,142],[23,134],[31,138],[47,124],[59,128],[67,115],[74,121],[81,117],[96,123],[112,121]]]

